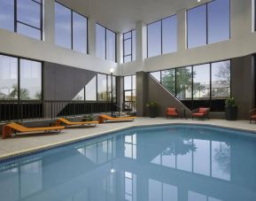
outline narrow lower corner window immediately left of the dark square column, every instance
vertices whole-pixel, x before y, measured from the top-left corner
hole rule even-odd
[[[124,77],[124,104],[133,111],[136,110],[136,75]]]

